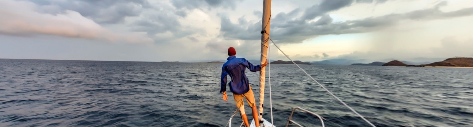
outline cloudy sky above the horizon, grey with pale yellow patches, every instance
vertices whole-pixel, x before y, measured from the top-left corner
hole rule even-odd
[[[0,0],[0,58],[191,61],[235,47],[259,59],[262,9],[263,0]],[[473,0],[272,0],[271,14],[270,37],[294,60],[473,57]]]

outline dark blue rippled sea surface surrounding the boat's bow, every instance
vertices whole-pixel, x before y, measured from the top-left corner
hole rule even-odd
[[[232,95],[224,102],[219,93],[221,66],[0,59],[0,127],[225,126],[236,107]],[[301,67],[378,127],[473,125],[472,68]],[[246,74],[258,83],[258,73]],[[368,126],[294,65],[271,65],[271,79],[278,127],[294,107],[322,115],[329,127]],[[263,116],[270,120],[268,90]],[[294,120],[319,125],[302,113]]]

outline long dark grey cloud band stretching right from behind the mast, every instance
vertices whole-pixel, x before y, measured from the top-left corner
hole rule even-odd
[[[327,5],[332,5],[330,6],[333,7],[332,10],[349,5],[345,2],[341,3],[342,4]],[[307,10],[310,8],[306,9],[304,15],[298,17],[301,11],[300,8],[297,8],[289,13],[281,12],[272,17],[271,38],[273,41],[279,43],[300,43],[304,40],[314,38],[319,35],[356,34],[377,31],[385,28],[386,26],[395,25],[399,21],[403,20],[435,20],[473,15],[473,8],[463,8],[451,12],[443,12],[438,9],[439,6],[444,5],[444,2],[441,2],[434,8],[416,10],[404,14],[390,14],[380,17],[368,17],[359,20],[350,20],[336,23],[333,23],[333,19],[329,14],[317,14],[317,17],[320,17],[320,19],[315,22],[306,20],[308,19]],[[324,10],[330,9],[325,8]],[[249,25],[233,24],[228,19],[228,17],[221,17],[221,35],[226,39],[259,40],[261,37],[261,20],[256,23],[248,24]]]

